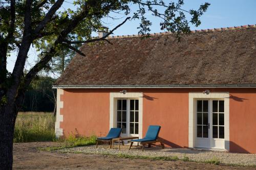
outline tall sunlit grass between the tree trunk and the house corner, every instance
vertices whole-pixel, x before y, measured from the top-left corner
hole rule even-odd
[[[18,114],[13,142],[54,141],[54,126],[52,113]]]

